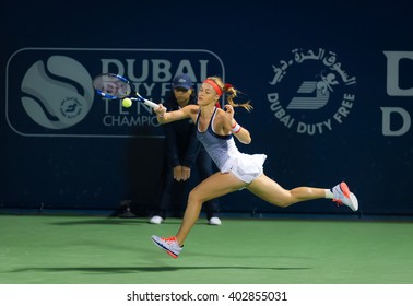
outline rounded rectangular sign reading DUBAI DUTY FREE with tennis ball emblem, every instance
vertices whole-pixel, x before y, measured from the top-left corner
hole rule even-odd
[[[25,137],[163,137],[149,106],[123,108],[96,95],[92,80],[107,72],[126,76],[156,103],[179,73],[197,85],[209,74],[225,76],[222,60],[209,50],[24,48],[7,64],[9,127]]]

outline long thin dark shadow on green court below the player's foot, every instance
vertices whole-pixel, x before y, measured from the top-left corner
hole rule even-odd
[[[303,267],[49,267],[49,268],[22,268],[10,272],[85,272],[85,273],[135,273],[135,272],[176,272],[182,270],[310,270]]]

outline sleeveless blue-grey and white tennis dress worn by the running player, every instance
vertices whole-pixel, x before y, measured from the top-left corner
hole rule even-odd
[[[249,184],[263,174],[262,165],[266,162],[266,154],[245,154],[238,151],[233,134],[220,136],[213,130],[216,109],[212,114],[211,121],[204,132],[199,130],[199,116],[197,116],[197,138],[205,148],[208,154],[214,161],[221,173],[232,173],[240,180]]]

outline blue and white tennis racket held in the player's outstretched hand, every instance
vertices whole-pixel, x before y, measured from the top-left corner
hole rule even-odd
[[[139,101],[143,104],[156,108],[158,105],[142,97],[135,90],[129,80],[122,75],[115,73],[103,73],[93,79],[93,87],[103,97],[110,99],[130,98],[132,101]]]

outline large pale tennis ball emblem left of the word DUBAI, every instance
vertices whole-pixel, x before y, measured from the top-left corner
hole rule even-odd
[[[87,70],[76,60],[51,56],[35,62],[22,81],[22,104],[27,115],[49,129],[67,129],[84,119],[94,98]]]

